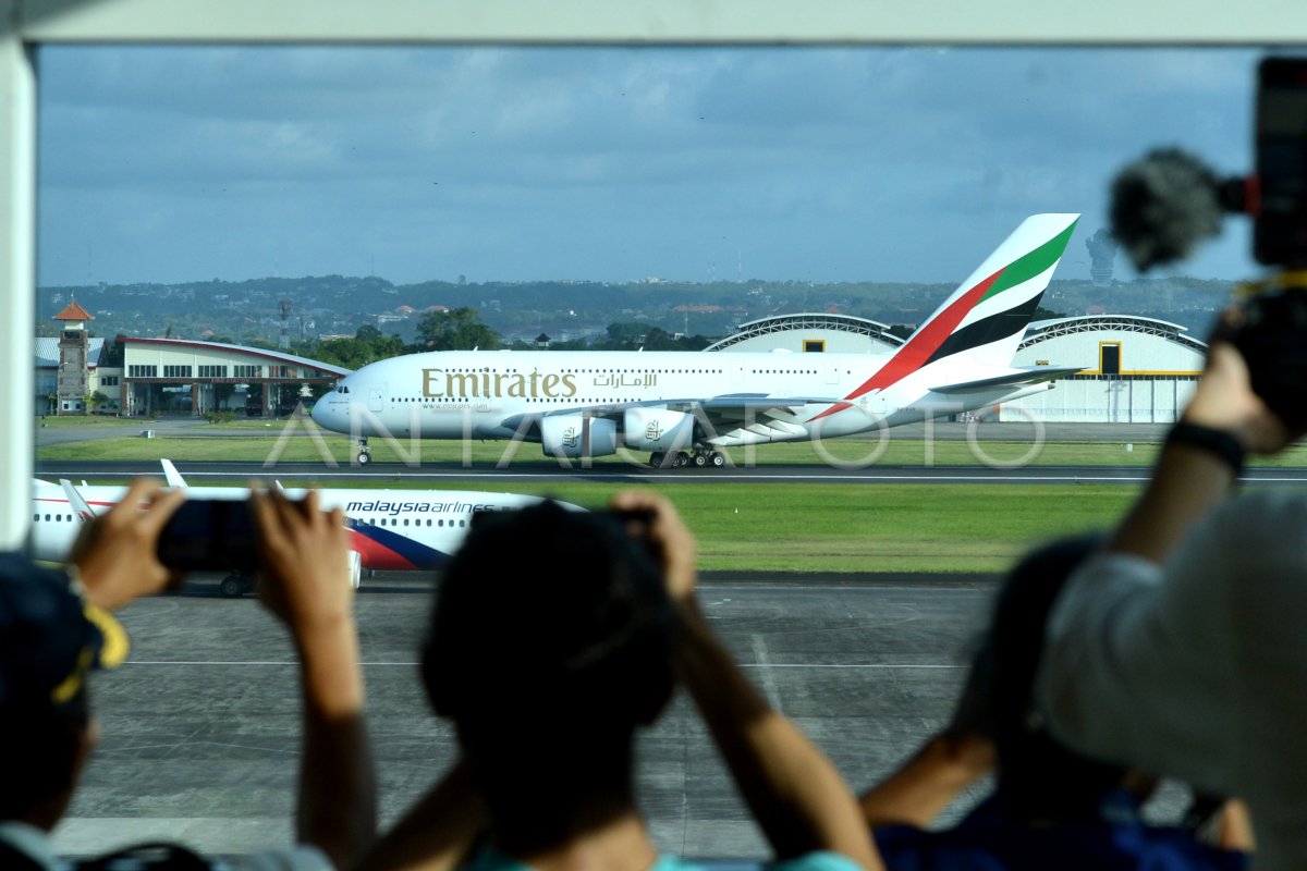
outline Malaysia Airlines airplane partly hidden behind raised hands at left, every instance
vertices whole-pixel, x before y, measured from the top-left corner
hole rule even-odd
[[[171,487],[186,487],[176,467],[163,460]],[[67,481],[52,484],[33,479],[31,555],[61,563],[77,538],[82,521],[115,505],[125,487],[74,487]],[[187,488],[188,499],[244,499],[246,487]],[[301,499],[306,490],[286,490]],[[358,586],[362,569],[439,568],[457,550],[473,515],[512,511],[541,501],[538,496],[473,490],[319,490],[323,508],[340,507],[349,526],[350,581]],[[563,503],[580,511],[576,505]],[[248,592],[252,578],[237,573],[223,578],[223,595]]]

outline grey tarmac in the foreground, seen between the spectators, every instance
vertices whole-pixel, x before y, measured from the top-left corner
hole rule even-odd
[[[393,820],[450,763],[414,652],[429,584],[386,575],[358,595],[380,782]],[[949,716],[988,584],[706,582],[714,627],[757,686],[869,785]],[[378,592],[383,590],[383,592]],[[97,675],[102,742],[56,840],[65,853],[182,838],[246,850],[290,837],[299,701],[282,628],[212,582],[123,612],[128,662]],[[529,727],[532,712],[524,712]],[[686,855],[767,855],[682,696],[640,746],[639,793],[657,844]]]

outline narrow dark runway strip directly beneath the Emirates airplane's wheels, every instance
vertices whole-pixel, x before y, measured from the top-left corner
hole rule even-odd
[[[176,462],[178,471],[195,484],[240,484],[251,479],[294,481],[320,483],[325,487],[350,486],[421,486],[431,487],[511,484],[521,482],[576,482],[614,484],[704,484],[704,483],[775,483],[796,481],[812,483],[1017,483],[1065,484],[1106,483],[1141,484],[1151,474],[1149,466],[1022,466],[1018,469],[988,469],[984,466],[869,466],[867,469],[840,469],[829,465],[758,465],[736,469],[650,469],[622,464],[596,464],[593,467],[559,469],[558,464],[538,461],[515,462],[508,467],[494,464],[463,466],[457,462],[374,462],[367,466],[335,467],[322,462]],[[122,481],[132,475],[159,475],[157,462],[150,461],[38,461],[38,478],[55,481],[69,478],[74,482]],[[1307,483],[1303,466],[1253,466],[1244,469],[1240,482],[1246,484],[1300,484]]]

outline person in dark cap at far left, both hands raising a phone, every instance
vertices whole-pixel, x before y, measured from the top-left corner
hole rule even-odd
[[[184,498],[133,482],[118,505],[88,524],[68,573],[0,555],[0,868],[58,867],[48,833],[67,811],[98,734],[89,673],[127,656],[127,633],[110,612],[169,584],[156,550]],[[254,507],[261,590],[301,657],[302,845],[223,867],[327,870],[353,861],[375,831],[344,517],[319,511],[316,495],[290,503],[256,494]],[[120,864],[106,858],[98,867],[209,867],[180,845],[128,849],[118,858]]]

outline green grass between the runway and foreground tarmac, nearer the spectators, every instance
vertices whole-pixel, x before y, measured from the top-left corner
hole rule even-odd
[[[1137,490],[1112,484],[654,486],[721,571],[1000,572],[1036,542],[1115,524]],[[613,486],[512,490],[601,507]]]

